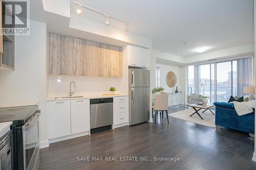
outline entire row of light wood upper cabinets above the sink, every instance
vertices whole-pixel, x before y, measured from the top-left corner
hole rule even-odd
[[[122,77],[121,47],[53,33],[49,37],[49,75]]]

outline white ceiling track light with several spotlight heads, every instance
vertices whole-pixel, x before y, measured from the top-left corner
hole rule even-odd
[[[117,18],[117,17],[115,17],[115,16],[112,16],[112,15],[106,14],[106,13],[104,13],[104,12],[98,11],[98,10],[96,10],[96,9],[93,9],[93,8],[90,8],[90,7],[81,5],[81,4],[77,3],[77,2],[74,2],[74,4],[76,4],[76,5],[79,6],[79,8],[76,10],[76,12],[77,12],[78,15],[81,15],[81,13],[82,13],[82,7],[83,7],[83,8],[86,8],[86,9],[88,9],[88,10],[91,10],[91,11],[93,11],[93,12],[97,12],[97,13],[99,13],[99,14],[105,16],[105,17],[106,17],[106,21],[105,21],[106,25],[109,25],[109,23],[110,23],[110,22],[109,22],[109,18],[118,20],[118,21],[120,21],[120,22],[124,22],[125,25],[126,25],[126,28],[127,28],[127,25],[129,25],[129,22],[128,22],[128,21],[122,20],[122,19]]]

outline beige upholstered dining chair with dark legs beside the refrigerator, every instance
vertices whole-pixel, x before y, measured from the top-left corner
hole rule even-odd
[[[154,106],[152,107],[153,110],[155,110],[155,124],[157,122],[157,114],[158,112],[162,112],[162,118],[163,113],[165,111],[167,122],[169,124],[169,118],[168,118],[168,94],[157,94]],[[160,115],[161,116],[161,115]]]

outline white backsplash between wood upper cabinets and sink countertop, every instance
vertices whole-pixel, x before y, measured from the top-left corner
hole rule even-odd
[[[69,95],[71,81],[76,83],[74,95],[103,94],[111,86],[116,87],[116,93],[122,93],[120,91],[122,78],[48,76],[49,97]]]

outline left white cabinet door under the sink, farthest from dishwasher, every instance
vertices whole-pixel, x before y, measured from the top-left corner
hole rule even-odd
[[[49,138],[71,134],[70,101],[49,102]]]

